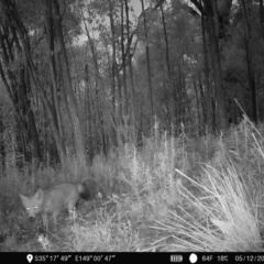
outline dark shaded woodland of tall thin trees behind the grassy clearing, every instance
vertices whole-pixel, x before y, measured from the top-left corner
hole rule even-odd
[[[1,172],[262,122],[263,46],[263,0],[0,0]]]

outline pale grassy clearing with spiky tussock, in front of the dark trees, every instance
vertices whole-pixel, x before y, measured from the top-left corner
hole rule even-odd
[[[1,251],[262,251],[264,127],[245,118],[219,136],[161,132],[125,144],[87,168],[23,169],[13,157],[0,178]],[[24,215],[18,194],[88,180],[92,198],[61,213],[47,237]]]

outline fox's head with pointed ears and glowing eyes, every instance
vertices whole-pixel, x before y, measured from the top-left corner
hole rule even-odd
[[[35,218],[35,216],[41,211],[43,204],[43,190],[38,189],[32,197],[26,197],[20,194],[21,201],[30,218]]]

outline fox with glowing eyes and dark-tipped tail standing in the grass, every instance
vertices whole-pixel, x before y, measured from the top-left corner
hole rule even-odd
[[[29,215],[35,218],[37,213],[42,215],[44,227],[48,228],[47,213],[54,213],[56,219],[59,211],[67,206],[68,211],[73,211],[79,198],[88,199],[90,197],[89,189],[85,184],[59,184],[50,189],[38,189],[31,197],[20,194],[21,201]]]

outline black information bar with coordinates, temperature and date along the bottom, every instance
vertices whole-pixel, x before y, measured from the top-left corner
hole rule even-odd
[[[264,252],[260,253],[0,253],[0,263],[261,263]]]

